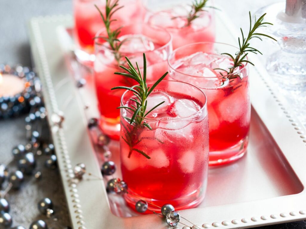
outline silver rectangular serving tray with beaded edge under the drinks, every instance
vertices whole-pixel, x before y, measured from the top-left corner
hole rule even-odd
[[[46,16],[33,18],[29,31],[33,63],[42,80],[49,117],[62,113],[65,118],[59,129],[50,118],[49,124],[73,228],[170,228],[164,219],[139,216],[121,197],[108,198],[106,194],[100,173],[102,157],[95,152],[87,129],[88,118],[97,117],[93,77],[71,55],[66,28],[72,26],[70,15]],[[230,31],[237,28],[217,12],[217,41],[236,44],[238,32]],[[306,219],[306,130],[274,88],[260,61],[251,59],[256,67],[250,67],[248,153],[235,163],[210,167],[205,200],[195,209],[180,211],[199,228],[249,228]],[[78,89],[75,80],[80,77],[87,84]],[[118,165],[118,143],[112,142],[110,147],[112,160]],[[80,162],[94,176],[75,182],[72,168]],[[117,174],[120,176],[120,169]]]

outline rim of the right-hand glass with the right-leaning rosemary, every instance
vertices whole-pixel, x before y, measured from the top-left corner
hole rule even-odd
[[[196,75],[189,75],[189,74],[186,74],[184,72],[181,72],[181,71],[178,71],[177,69],[175,69],[173,67],[172,64],[170,64],[170,59],[173,58],[174,54],[179,51],[180,49],[184,49],[188,46],[191,46],[191,45],[199,45],[199,44],[220,44],[220,45],[228,45],[228,46],[232,46],[233,48],[235,49],[238,49],[238,47],[234,46],[234,45],[230,45],[230,44],[226,44],[226,43],[222,43],[222,42],[195,42],[195,43],[190,43],[190,44],[187,44],[187,45],[183,45],[177,49],[174,49],[172,53],[170,53],[170,55],[168,56],[168,65],[171,69],[173,69],[175,72],[178,72],[182,75],[186,75],[188,77],[195,77],[195,78],[205,78],[205,79],[219,79],[219,78],[224,78],[226,76],[230,76],[230,75],[236,75],[236,74],[239,74],[241,71],[243,71],[247,66],[248,66],[248,62],[246,62],[246,64],[243,66],[243,68],[241,68],[239,71],[237,72],[233,72],[232,74],[226,74],[226,75],[220,75],[220,76],[214,76],[214,77],[203,77],[203,76],[196,76]],[[205,53],[205,52],[204,52]],[[194,53],[193,53],[194,54]],[[192,54],[191,54],[192,55]],[[248,56],[246,56],[246,59],[248,60]]]

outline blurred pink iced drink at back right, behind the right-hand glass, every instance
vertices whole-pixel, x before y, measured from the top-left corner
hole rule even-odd
[[[199,17],[188,25],[189,5],[174,5],[171,8],[168,6],[166,10],[153,11],[153,6],[156,7],[156,4],[155,0],[147,0],[145,3],[148,9],[146,21],[151,26],[163,27],[171,32],[173,49],[195,42],[215,41],[214,10],[205,8],[205,11],[199,12]]]

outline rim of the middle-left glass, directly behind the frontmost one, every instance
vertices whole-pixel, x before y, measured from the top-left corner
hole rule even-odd
[[[117,22],[116,24],[119,24],[119,23]],[[135,25],[135,24],[132,24],[132,23],[130,23],[130,24],[124,24],[124,25],[122,25],[122,27],[134,26],[134,25]],[[142,54],[142,53],[155,52],[155,51],[164,49],[164,48],[166,48],[166,47],[172,45],[173,36],[172,36],[172,34],[171,34],[169,31],[167,31],[166,29],[164,29],[164,28],[162,28],[162,27],[159,27],[159,26],[154,26],[154,27],[153,27],[153,26],[151,26],[151,25],[149,25],[149,24],[146,24],[146,23],[138,23],[137,26],[138,26],[138,25],[146,25],[146,26],[148,26],[148,27],[150,27],[150,28],[152,28],[152,29],[164,31],[164,32],[166,32],[166,33],[170,36],[170,39],[169,39],[169,41],[168,41],[166,44],[164,44],[164,45],[162,45],[162,46],[160,46],[160,47],[158,47],[158,48],[156,48],[156,49],[153,49],[153,50],[149,50],[149,51],[137,51],[137,52],[121,52],[121,54],[123,54],[124,56],[129,55],[129,54]],[[99,31],[98,31],[98,32],[96,33],[96,35],[95,35],[95,38],[98,37],[99,34],[101,34],[102,31],[105,31],[105,30],[106,30],[105,27],[103,27],[102,29],[99,29]],[[139,33],[135,33],[135,35],[137,35],[137,34],[139,34]],[[141,35],[141,34],[139,34],[139,35]],[[96,40],[96,39],[94,39],[95,45],[103,46],[103,47],[105,47],[106,49],[108,49],[108,50],[110,50],[110,51],[113,51],[112,49],[110,49],[109,47],[107,47],[106,45],[104,45],[104,44],[106,43],[106,41],[105,41],[104,43],[97,43],[95,40]]]

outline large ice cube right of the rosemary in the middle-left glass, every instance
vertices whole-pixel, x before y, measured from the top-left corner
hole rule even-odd
[[[144,35],[124,35],[120,40],[125,40],[120,47],[122,53],[146,52],[154,50],[153,41]]]

